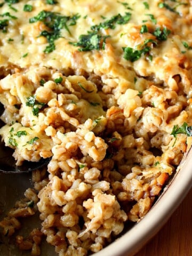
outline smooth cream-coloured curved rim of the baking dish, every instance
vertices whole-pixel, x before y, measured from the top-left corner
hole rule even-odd
[[[169,220],[192,187],[192,149],[187,151],[170,183],[143,219],[95,256],[133,256]],[[177,189],[175,189],[177,188]],[[167,199],[168,198],[168,199]],[[162,207],[163,205],[163,207]]]

